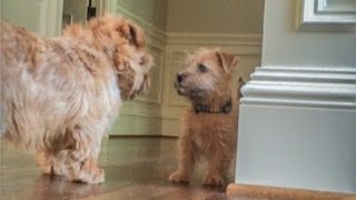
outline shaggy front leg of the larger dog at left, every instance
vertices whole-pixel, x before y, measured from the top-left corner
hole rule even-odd
[[[70,181],[100,183],[105,181],[103,170],[97,164],[101,134],[88,130],[93,129],[77,127],[67,132],[71,136],[73,146],[58,153],[53,168]]]

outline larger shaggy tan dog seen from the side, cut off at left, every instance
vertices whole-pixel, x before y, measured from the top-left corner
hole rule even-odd
[[[101,138],[122,100],[148,88],[142,30],[121,17],[44,38],[1,21],[1,137],[36,152],[44,173],[103,182]]]

